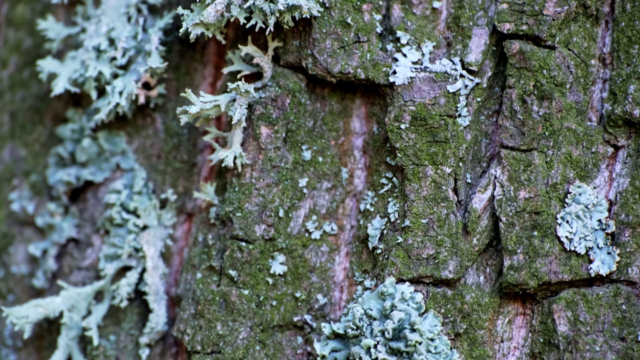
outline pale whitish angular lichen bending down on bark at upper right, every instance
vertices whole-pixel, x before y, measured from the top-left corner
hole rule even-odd
[[[467,108],[467,96],[471,89],[480,82],[480,79],[474,78],[468,74],[467,70],[462,68],[460,58],[442,58],[431,63],[431,51],[435,43],[425,41],[418,48],[412,45],[413,38],[402,31],[397,31],[397,37],[402,45],[404,45],[399,53],[394,55],[396,62],[392,65],[389,72],[389,81],[396,85],[409,83],[411,78],[417,75],[420,70],[428,72],[441,72],[451,75],[456,83],[447,86],[449,92],[460,92],[458,95],[458,123],[461,126],[467,126],[471,117]]]

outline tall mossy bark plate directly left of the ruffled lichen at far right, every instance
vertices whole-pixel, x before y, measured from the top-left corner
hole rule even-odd
[[[505,43],[508,56],[496,208],[504,286],[589,277],[588,259],[566,252],[555,233],[568,186],[591,183],[614,152],[602,127],[588,124],[588,69],[562,49]],[[572,60],[573,59],[573,60]]]

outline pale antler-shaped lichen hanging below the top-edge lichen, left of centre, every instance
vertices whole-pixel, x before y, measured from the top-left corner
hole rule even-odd
[[[260,89],[269,83],[273,72],[273,64],[271,63],[273,51],[281,45],[280,42],[272,40],[270,36],[267,40],[268,50],[266,53],[255,47],[251,38],[246,46],[241,45],[238,51],[230,53],[229,58],[232,60],[232,65],[225,67],[222,71],[225,74],[239,71],[237,75],[239,80],[227,84],[227,93],[210,95],[200,92],[198,97],[187,89],[185,94],[182,94],[192,102],[192,105],[183,106],[177,110],[181,124],[195,122],[197,126],[201,126],[223,113],[228,113],[231,118],[232,127],[228,133],[220,131],[214,126],[206,127],[209,134],[204,137],[204,140],[214,147],[213,154],[209,156],[212,163],[222,161],[222,165],[225,167],[237,167],[238,170],[242,170],[242,165],[249,162],[242,149],[243,129],[246,126],[248,107],[255,99],[262,96]],[[252,58],[252,63],[259,67],[248,65],[244,61],[245,56]],[[244,79],[241,79],[246,74],[260,71],[262,72],[260,81],[248,84],[244,82]],[[216,138],[224,138],[227,146],[218,145]]]

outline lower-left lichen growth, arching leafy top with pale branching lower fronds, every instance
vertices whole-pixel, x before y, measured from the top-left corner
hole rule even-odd
[[[63,290],[58,295],[3,307],[3,315],[16,329],[23,330],[27,338],[36,322],[61,314],[58,348],[51,359],[68,356],[83,359],[78,357],[81,356],[78,343],[82,329],[97,346],[97,329],[109,305],[127,306],[136,289],[140,289],[145,292],[151,310],[140,338],[140,355],[145,358],[148,346],[166,330],[166,266],[160,254],[170,240],[175,222],[172,206],[175,198],[171,192],[160,198],[154,195],[147,173],[136,162],[122,133],[102,130],[83,136],[81,122],[63,124],[57,132],[63,143],[54,147],[49,155],[47,183],[58,197],[34,212],[34,222],[44,231],[45,238],[28,247],[39,261],[33,284],[44,288],[49,283],[58,268],[58,250],[77,236],[80,218],[68,199],[70,190],[86,181],[101,183],[119,170],[122,175],[108,187],[104,197],[106,209],[97,226],[102,235],[100,279],[83,287],[59,281]],[[167,199],[168,206],[161,207],[161,199]],[[27,199],[23,197],[22,201]],[[116,280],[115,275],[122,271],[124,275]]]

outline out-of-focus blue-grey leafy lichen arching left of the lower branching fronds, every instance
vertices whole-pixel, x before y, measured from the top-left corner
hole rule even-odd
[[[32,210],[35,225],[44,233],[44,239],[29,244],[28,250],[38,259],[32,283],[36,288],[45,288],[51,275],[58,269],[56,256],[61,246],[77,235],[78,215],[69,206],[68,194],[84,183],[102,183],[113,172],[120,168],[131,170],[135,158],[125,143],[124,136],[111,131],[86,133],[81,122],[81,113],[76,110],[67,112],[71,121],[56,129],[56,135],[63,140],[49,152],[48,167],[45,172],[47,186],[51,189],[53,199],[40,208]],[[13,207],[19,209],[21,204],[35,203],[35,200],[13,196]]]

